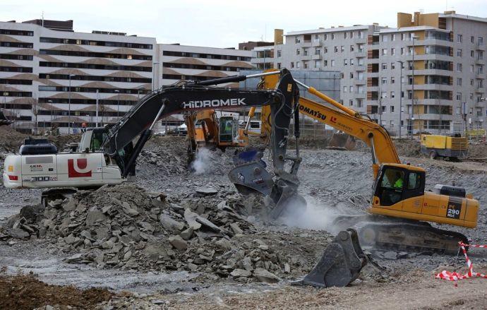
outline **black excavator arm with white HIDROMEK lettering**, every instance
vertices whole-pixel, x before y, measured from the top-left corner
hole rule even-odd
[[[279,81],[275,88],[268,90],[211,86],[275,74],[279,74]],[[270,148],[275,177],[268,196],[275,210],[282,210],[288,201],[293,201],[298,196],[299,181],[296,174],[301,158],[299,155],[293,157],[287,154],[289,126],[291,117],[296,119],[298,100],[299,89],[287,69],[202,82],[183,81],[176,85],[160,88],[143,97],[117,124],[109,129],[107,139],[102,144],[102,150],[116,159],[122,176],[126,177],[135,171],[136,159],[152,135],[155,123],[162,117],[174,113],[191,114],[209,109],[269,106],[272,119]],[[299,122],[295,121],[294,126],[296,136],[296,133],[299,133]],[[133,148],[128,147],[137,136],[139,138],[136,145]],[[125,153],[123,157],[120,155],[121,153]],[[292,162],[292,165],[287,169],[285,164],[289,161]],[[299,200],[301,201],[301,199]]]

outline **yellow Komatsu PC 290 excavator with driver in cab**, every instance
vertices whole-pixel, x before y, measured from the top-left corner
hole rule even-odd
[[[272,88],[277,83],[277,76],[265,76],[263,81],[263,88]],[[299,112],[348,133],[371,148],[374,184],[369,214],[338,217],[335,220],[338,230],[354,227],[359,232],[361,245],[397,251],[455,254],[458,242],[468,242],[463,234],[438,229],[430,223],[474,228],[479,201],[467,194],[464,188],[457,186],[437,184],[433,191],[426,191],[426,171],[421,167],[401,163],[392,139],[382,126],[315,88],[299,81],[296,83],[332,106],[327,107],[300,97]],[[254,112],[252,110],[251,114]],[[261,121],[261,137],[265,138],[266,133],[272,133],[266,107],[262,109]],[[238,187],[247,186],[249,190],[259,191],[260,188],[252,181],[258,179],[258,175],[248,176],[247,180],[250,181],[239,182],[234,176],[246,173],[239,172],[238,165],[235,169],[229,177]]]

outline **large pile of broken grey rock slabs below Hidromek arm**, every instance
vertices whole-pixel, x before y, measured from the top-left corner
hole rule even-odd
[[[277,282],[291,271],[311,270],[315,249],[306,260],[290,254],[286,248],[293,242],[284,241],[282,232],[257,234],[249,215],[255,203],[260,198],[239,194],[223,200],[210,188],[169,198],[134,184],[104,186],[49,201],[46,208],[24,207],[0,238],[37,239],[52,254],[68,256],[68,263],[97,268],[189,270],[242,282]]]

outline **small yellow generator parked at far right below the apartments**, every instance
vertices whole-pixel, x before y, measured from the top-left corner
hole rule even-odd
[[[449,157],[457,159],[467,157],[467,138],[459,134],[454,136],[421,135],[421,153],[431,159]]]

